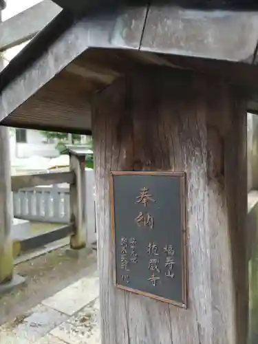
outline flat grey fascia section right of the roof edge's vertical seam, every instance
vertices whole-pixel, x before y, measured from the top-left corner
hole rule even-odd
[[[252,63],[257,40],[258,12],[153,4],[140,50]]]

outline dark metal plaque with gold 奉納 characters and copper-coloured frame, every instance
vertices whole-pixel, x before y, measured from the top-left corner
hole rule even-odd
[[[186,308],[184,173],[111,172],[118,288]]]

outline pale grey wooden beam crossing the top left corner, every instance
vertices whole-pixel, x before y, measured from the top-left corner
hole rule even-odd
[[[32,39],[61,10],[56,3],[44,0],[7,21],[3,21],[0,24],[0,52]]]

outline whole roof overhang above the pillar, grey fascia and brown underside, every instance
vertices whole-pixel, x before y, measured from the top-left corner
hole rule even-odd
[[[94,94],[146,65],[227,78],[257,111],[257,38],[258,12],[146,5],[78,20],[63,10],[1,72],[1,124],[88,133]]]

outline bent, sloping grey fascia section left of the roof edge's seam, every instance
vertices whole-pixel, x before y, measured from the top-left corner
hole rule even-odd
[[[17,77],[3,89],[0,96],[0,120],[11,114],[89,46],[138,50],[146,12],[147,7],[125,9],[124,12],[107,20],[84,18],[75,23],[52,43],[45,54],[37,58],[34,63],[30,63],[28,68],[19,69]],[[32,41],[30,50],[33,49]],[[11,70],[11,63],[8,67]],[[8,67],[6,67],[6,77]],[[59,124],[62,127],[62,120]]]

